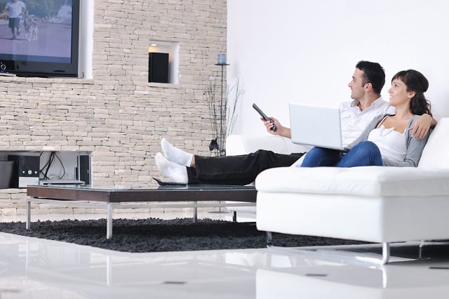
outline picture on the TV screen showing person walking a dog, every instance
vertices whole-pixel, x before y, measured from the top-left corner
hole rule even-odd
[[[0,0],[0,60],[70,63],[72,0]]]

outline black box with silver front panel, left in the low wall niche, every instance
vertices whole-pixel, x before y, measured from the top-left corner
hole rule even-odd
[[[8,155],[8,161],[14,161],[12,188],[26,188],[27,185],[39,185],[39,156]]]

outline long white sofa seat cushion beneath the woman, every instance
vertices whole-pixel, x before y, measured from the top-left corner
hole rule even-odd
[[[449,169],[434,171],[384,166],[281,167],[262,171],[255,180],[255,187],[259,192],[347,194],[365,197],[449,195]]]

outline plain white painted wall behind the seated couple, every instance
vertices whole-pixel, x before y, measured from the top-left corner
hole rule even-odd
[[[449,4],[444,0],[228,0],[227,79],[245,91],[233,133],[267,134],[256,102],[289,126],[288,102],[337,106],[358,60],[391,77],[417,69],[429,79],[434,117],[449,117]]]

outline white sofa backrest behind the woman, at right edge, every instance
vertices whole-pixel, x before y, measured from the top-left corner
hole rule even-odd
[[[449,169],[449,118],[438,121],[430,134],[418,167],[431,169]]]

